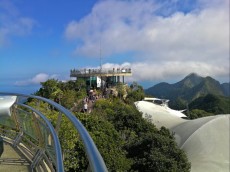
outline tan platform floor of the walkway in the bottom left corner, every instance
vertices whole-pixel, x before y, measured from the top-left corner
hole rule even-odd
[[[31,172],[25,156],[9,143],[4,142],[4,152],[0,158],[0,172]]]

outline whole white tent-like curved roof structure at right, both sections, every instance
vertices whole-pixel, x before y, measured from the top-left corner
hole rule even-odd
[[[148,113],[157,127],[165,126],[175,134],[178,146],[191,162],[192,172],[229,172],[230,115],[216,115],[195,120],[181,119],[174,111],[140,101],[137,108]],[[143,115],[144,116],[144,115]],[[145,116],[144,116],[145,117]]]

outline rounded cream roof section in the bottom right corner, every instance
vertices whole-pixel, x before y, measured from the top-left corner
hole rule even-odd
[[[172,128],[176,141],[192,163],[192,171],[229,171],[230,115],[191,120]]]

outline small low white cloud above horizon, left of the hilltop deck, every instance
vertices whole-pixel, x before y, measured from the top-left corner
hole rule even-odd
[[[45,82],[48,79],[57,79],[58,75],[48,75],[46,73],[39,73],[31,79],[16,81],[15,85],[17,86],[27,86],[27,85],[39,85],[41,82]]]

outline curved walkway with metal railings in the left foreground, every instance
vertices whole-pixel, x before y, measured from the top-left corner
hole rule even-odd
[[[36,104],[30,106],[28,102]],[[52,123],[44,103],[55,109]],[[79,134],[89,162],[95,172],[108,171],[104,160],[82,123],[70,111],[52,100],[16,93],[0,92],[0,171],[64,171],[60,134],[63,118]],[[54,125],[55,124],[55,125]],[[3,144],[2,144],[3,143]],[[3,148],[3,149],[2,149]]]

